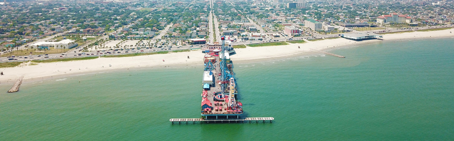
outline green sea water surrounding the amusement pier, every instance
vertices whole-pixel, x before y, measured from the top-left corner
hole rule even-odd
[[[68,76],[16,93],[0,85],[0,141],[454,140],[453,45],[381,42],[328,51],[346,58],[236,63],[245,116],[273,123],[172,125],[201,117],[202,68]]]

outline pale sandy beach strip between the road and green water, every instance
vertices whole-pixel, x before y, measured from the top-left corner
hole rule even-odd
[[[356,42],[344,38],[336,38],[320,41],[309,41],[306,43],[290,43],[290,45],[284,46],[237,48],[235,49],[237,54],[232,56],[231,59],[232,61],[245,61],[290,56],[304,52],[311,52],[311,49],[321,50],[329,47],[336,48],[353,45],[356,46],[359,44],[386,42],[392,40],[405,40],[415,38],[448,38],[454,37],[454,28],[427,32],[392,33],[384,34],[383,36],[384,40],[366,40]],[[300,46],[300,48],[298,48],[298,46]],[[3,71],[5,75],[0,76],[0,81],[15,80],[20,76],[24,76],[24,79],[26,80],[30,78],[74,75],[84,72],[107,71],[136,67],[165,67],[196,64],[201,65],[203,55],[204,54],[200,50],[197,50],[191,52],[155,54],[148,56],[109,58],[101,57],[84,61],[39,63],[38,65],[27,65],[27,63],[23,63],[20,66],[16,67],[1,68],[0,71]],[[187,56],[190,56],[190,58],[188,59]]]

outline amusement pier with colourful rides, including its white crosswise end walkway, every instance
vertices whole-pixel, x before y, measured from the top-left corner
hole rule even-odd
[[[228,39],[227,39],[228,40]],[[225,46],[225,37],[221,44],[209,46],[203,56],[204,68],[202,75],[202,118],[172,118],[170,122],[244,122],[272,121],[274,118],[243,117],[243,104],[237,99],[237,82],[233,73],[233,47]]]

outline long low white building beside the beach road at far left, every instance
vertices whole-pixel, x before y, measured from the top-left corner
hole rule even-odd
[[[64,39],[59,42],[36,42],[34,44],[31,44],[29,46],[29,48],[33,47],[36,49],[38,49],[38,48],[49,49],[49,47],[54,47],[55,49],[69,49],[69,48],[73,48],[76,46],[77,46],[77,43],[74,40]]]

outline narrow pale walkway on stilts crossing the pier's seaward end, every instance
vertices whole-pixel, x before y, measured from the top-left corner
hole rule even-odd
[[[274,120],[274,118],[272,118],[272,117],[268,117],[268,118],[244,118],[244,119],[171,118],[169,121],[172,122],[172,124],[173,124],[173,122],[178,122],[178,123],[181,123],[181,122],[186,122],[186,123],[188,123],[188,122],[192,122],[192,123],[194,123],[194,122],[200,122],[200,123],[208,122],[209,123],[209,122],[238,122],[238,121],[242,121],[242,122],[244,122],[244,121],[249,121],[249,122],[251,122],[251,121],[256,121],[256,122],[263,121],[263,122],[265,122],[265,121],[268,121],[268,120],[271,122],[272,120]]]

